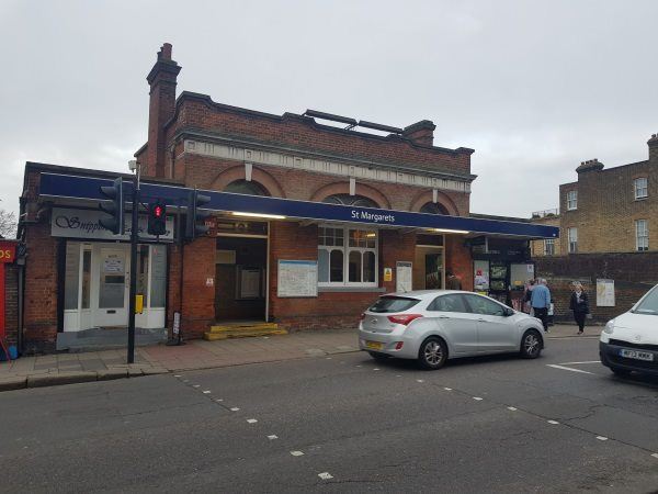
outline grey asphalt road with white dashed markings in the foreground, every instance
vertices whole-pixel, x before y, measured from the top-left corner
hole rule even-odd
[[[597,345],[435,372],[343,353],[4,392],[0,491],[658,491],[658,382],[613,377]]]

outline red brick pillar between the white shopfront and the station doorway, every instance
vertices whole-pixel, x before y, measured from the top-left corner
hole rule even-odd
[[[202,237],[183,248],[183,337],[201,337],[215,321],[216,244],[214,237]],[[206,283],[208,279],[212,279],[211,285]]]

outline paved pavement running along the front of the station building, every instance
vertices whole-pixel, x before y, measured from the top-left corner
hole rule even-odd
[[[600,328],[587,328],[599,335]],[[554,326],[551,338],[576,336],[576,326]],[[189,341],[184,346],[140,347],[135,363],[126,364],[125,350],[89,351],[23,357],[0,362],[0,391],[135,378],[192,369],[213,369],[356,351],[352,330],[300,332],[292,335],[222,341]]]

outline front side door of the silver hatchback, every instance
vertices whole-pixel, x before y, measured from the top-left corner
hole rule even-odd
[[[477,315],[478,351],[491,353],[519,347],[515,325],[506,315],[506,306],[486,296],[464,295],[470,311]]]

